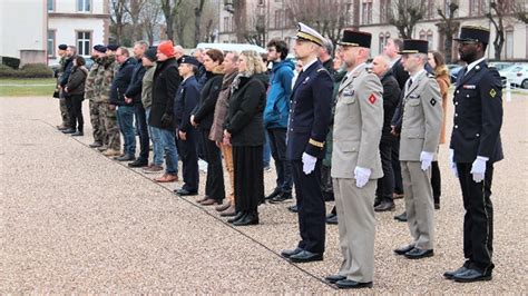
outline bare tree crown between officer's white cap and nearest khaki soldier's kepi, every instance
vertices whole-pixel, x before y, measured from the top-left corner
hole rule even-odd
[[[350,3],[344,0],[291,0],[287,8],[295,21],[314,28],[333,43],[340,39],[341,31],[350,18]]]

